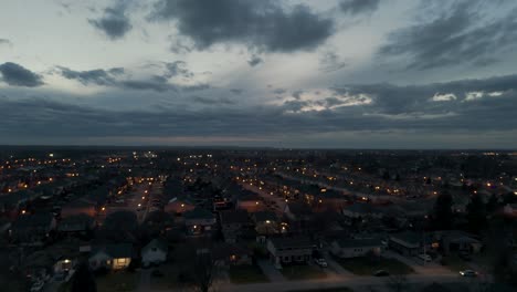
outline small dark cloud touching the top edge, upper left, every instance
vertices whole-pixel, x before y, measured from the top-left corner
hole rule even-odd
[[[115,7],[106,8],[102,18],[89,19],[88,22],[110,40],[122,39],[133,29],[130,20],[126,15],[126,9],[127,2],[119,1]]]

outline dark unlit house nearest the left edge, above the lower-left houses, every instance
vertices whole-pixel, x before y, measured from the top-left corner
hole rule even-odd
[[[14,242],[40,246],[50,238],[55,227],[55,218],[50,212],[22,215],[11,225],[9,233]]]

